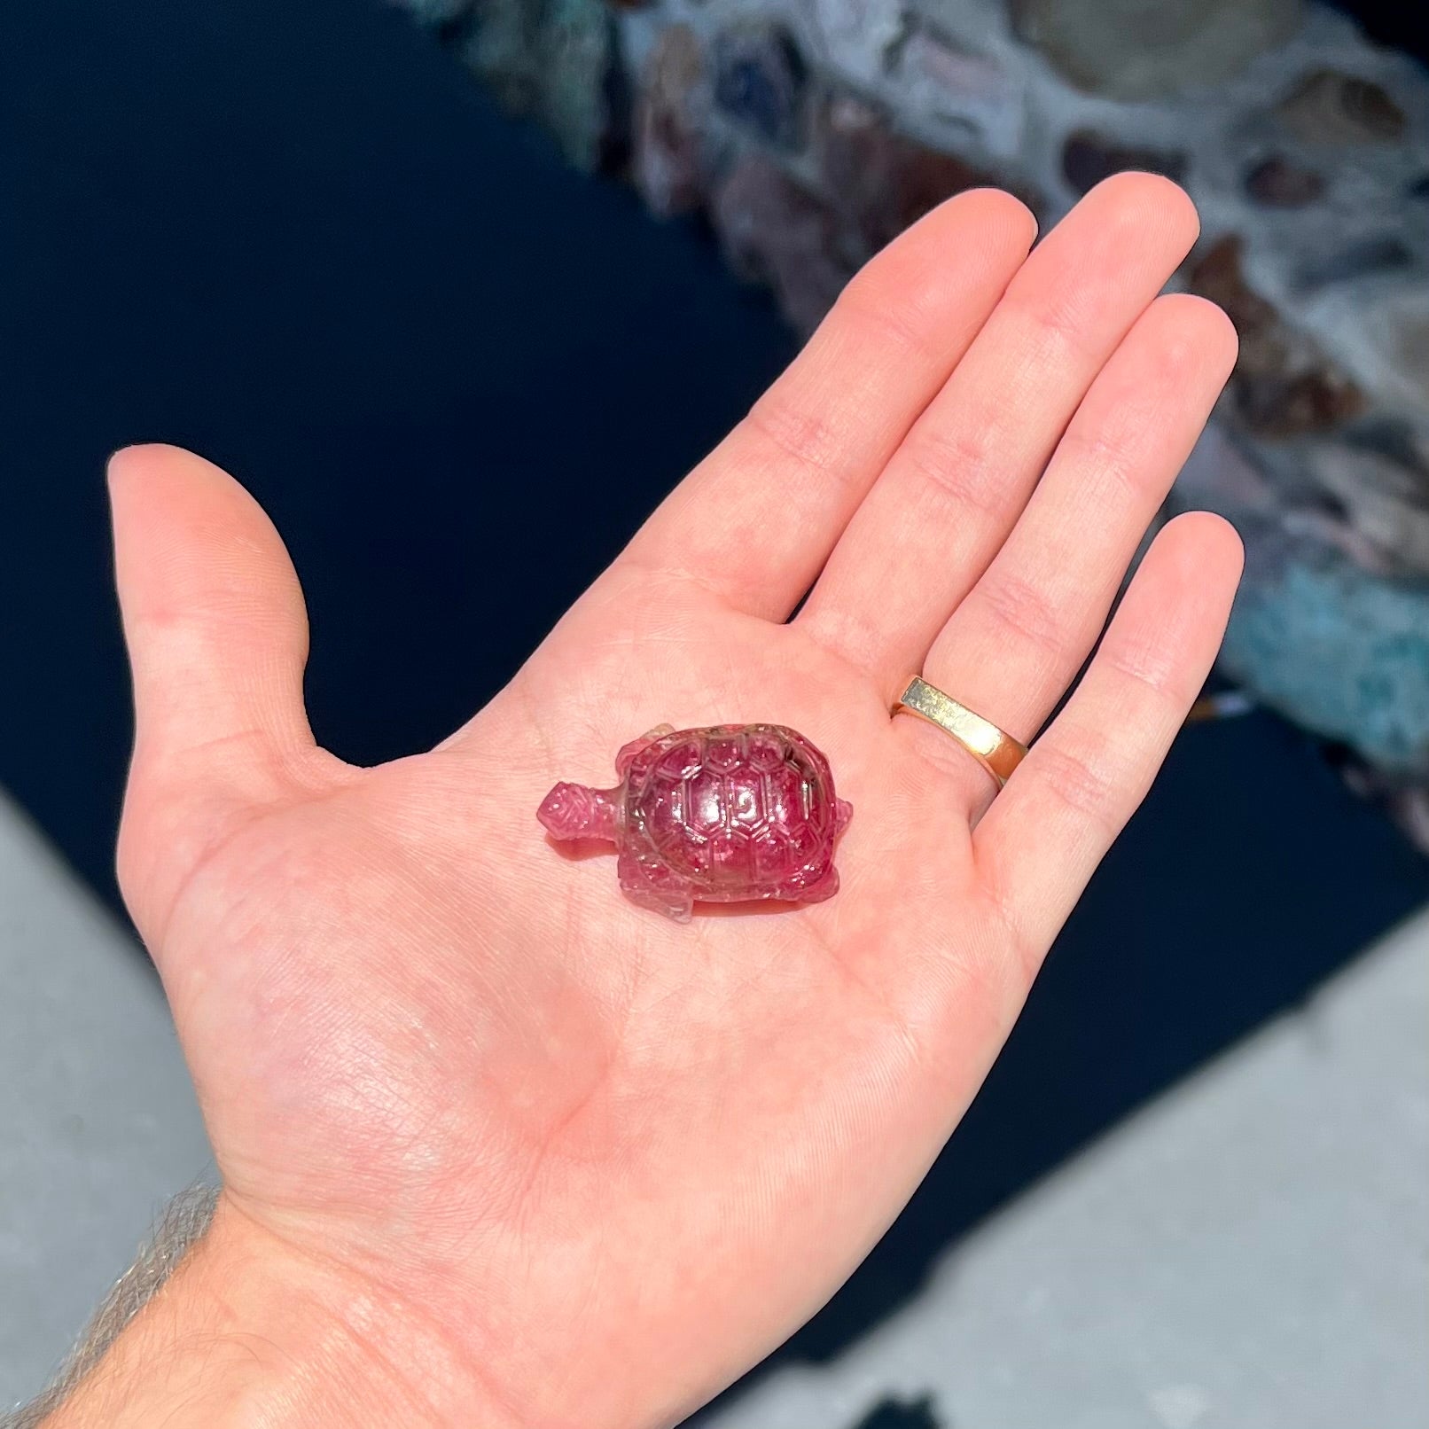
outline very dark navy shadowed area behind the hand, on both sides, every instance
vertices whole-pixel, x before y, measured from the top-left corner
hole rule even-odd
[[[792,353],[702,234],[573,174],[374,3],[7,7],[0,116],[0,782],[110,900],[113,447],[191,446],[267,506],[314,727],[373,762],[497,689]],[[1426,892],[1308,739],[1187,732],[953,1146],[785,1353],[837,1350]]]

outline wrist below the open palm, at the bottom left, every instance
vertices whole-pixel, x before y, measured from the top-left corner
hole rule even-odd
[[[220,1196],[209,1233],[46,1429],[517,1429],[420,1312]]]

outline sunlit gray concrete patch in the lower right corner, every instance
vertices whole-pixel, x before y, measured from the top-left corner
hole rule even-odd
[[[965,1239],[850,1353],[712,1423],[932,1396],[945,1429],[1423,1429],[1426,953],[1420,916]]]

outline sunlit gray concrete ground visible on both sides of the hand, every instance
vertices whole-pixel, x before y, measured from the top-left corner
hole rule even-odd
[[[157,983],[0,802],[0,1405],[207,1172]],[[1429,1426],[1429,915],[952,1250],[719,1429]],[[1047,1069],[1056,1075],[1055,1067]]]

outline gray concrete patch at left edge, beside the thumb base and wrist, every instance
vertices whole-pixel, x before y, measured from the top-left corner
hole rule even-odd
[[[0,795],[0,1406],[36,1393],[209,1145],[157,979]]]

